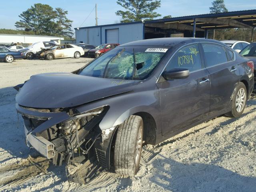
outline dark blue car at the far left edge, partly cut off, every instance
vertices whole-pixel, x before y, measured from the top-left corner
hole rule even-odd
[[[19,51],[10,50],[7,47],[0,46],[0,60],[11,63],[14,59],[24,58],[23,53]]]

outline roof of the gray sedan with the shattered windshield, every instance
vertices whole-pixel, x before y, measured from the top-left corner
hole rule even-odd
[[[155,38],[155,39],[146,39],[138,40],[134,42],[129,42],[122,44],[120,46],[166,46],[172,47],[179,43],[193,43],[193,42],[215,42],[220,43],[217,40],[205,39],[205,38],[184,38],[184,37],[168,37],[168,38]],[[221,43],[220,43],[221,44]]]

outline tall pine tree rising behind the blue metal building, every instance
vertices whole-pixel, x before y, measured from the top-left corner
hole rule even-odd
[[[122,16],[121,22],[152,20],[161,14],[154,12],[161,5],[161,0],[117,0],[117,4],[127,11],[118,10],[116,15]]]

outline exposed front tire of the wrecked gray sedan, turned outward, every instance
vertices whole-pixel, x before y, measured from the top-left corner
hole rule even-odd
[[[131,115],[117,130],[114,146],[114,168],[116,173],[125,176],[134,176],[138,172],[142,141],[142,118]]]

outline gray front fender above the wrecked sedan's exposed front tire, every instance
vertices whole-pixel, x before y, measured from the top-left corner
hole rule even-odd
[[[101,130],[119,125],[130,115],[138,112],[147,112],[151,114],[156,122],[157,128],[160,127],[161,111],[158,89],[143,92],[128,92],[107,99],[102,99],[97,102],[85,104],[76,109],[82,113],[105,105],[110,106],[110,108],[100,122],[99,126]]]

